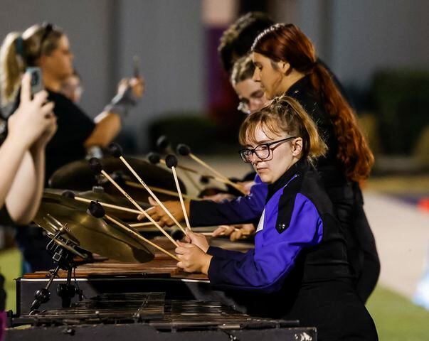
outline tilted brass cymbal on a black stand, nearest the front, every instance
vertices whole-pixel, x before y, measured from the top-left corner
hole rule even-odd
[[[82,249],[111,259],[125,263],[144,263],[154,258],[147,244],[134,239],[121,227],[93,217],[86,212],[87,207],[83,202],[45,193],[34,222],[46,229],[51,237],[58,232],[54,225],[62,225],[62,237],[70,239]],[[52,221],[58,223],[52,224]]]

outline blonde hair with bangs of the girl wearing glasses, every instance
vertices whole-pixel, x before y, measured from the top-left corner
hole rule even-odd
[[[288,96],[275,97],[271,104],[248,115],[240,126],[240,144],[255,141],[255,131],[261,128],[267,136],[270,133],[281,136],[284,133],[302,138],[302,157],[313,163],[324,156],[327,145],[317,132],[317,126],[297,100]]]

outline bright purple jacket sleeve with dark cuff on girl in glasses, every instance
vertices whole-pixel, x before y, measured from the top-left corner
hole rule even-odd
[[[277,232],[279,198],[265,206],[255,237],[255,250],[242,259],[213,256],[208,278],[213,286],[264,292],[278,291],[300,251],[322,241],[323,225],[314,204],[304,195],[295,197],[288,227]],[[261,224],[262,223],[262,224]]]

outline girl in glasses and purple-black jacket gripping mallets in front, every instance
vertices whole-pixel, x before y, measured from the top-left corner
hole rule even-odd
[[[314,121],[292,97],[275,98],[245,119],[239,137],[241,158],[268,184],[255,249],[209,247],[189,231],[177,266],[207,274],[213,288],[248,292],[251,315],[315,326],[317,340],[378,340],[351,281],[335,207],[312,166],[327,152]]]

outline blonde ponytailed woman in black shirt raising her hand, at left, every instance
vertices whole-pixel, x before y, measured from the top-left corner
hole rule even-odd
[[[48,100],[55,104],[58,130],[46,147],[46,183],[61,166],[107,146],[119,133],[128,109],[137,104],[144,91],[142,79],[128,80],[127,88],[118,92],[101,114],[90,119],[60,93],[63,81],[73,74],[73,58],[68,37],[49,23],[33,25],[22,34],[9,33],[0,49],[2,104],[18,107],[19,80],[26,67],[41,68]],[[27,271],[49,269],[53,265],[45,250],[48,239],[40,229],[19,227],[16,241],[23,250]]]

